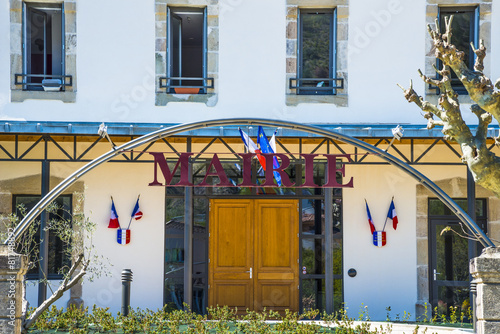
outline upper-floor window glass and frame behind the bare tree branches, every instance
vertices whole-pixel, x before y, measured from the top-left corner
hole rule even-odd
[[[453,15],[451,42],[458,50],[465,53],[464,62],[469,69],[474,69],[475,54],[470,46],[479,47],[479,7],[439,7],[439,27],[442,32],[446,31],[445,19]],[[438,68],[442,62],[438,62]],[[467,94],[467,90],[460,82],[456,74],[451,71],[451,86],[458,94]]]

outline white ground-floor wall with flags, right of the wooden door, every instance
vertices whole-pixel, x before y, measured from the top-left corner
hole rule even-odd
[[[462,166],[424,166],[420,172],[433,181],[466,177]],[[354,188],[343,191],[344,301],[350,317],[357,318],[362,305],[372,320],[385,320],[386,307],[392,319],[404,312],[415,318],[417,302],[416,185],[404,172],[390,166],[348,166]],[[463,194],[466,197],[466,194]],[[377,230],[382,230],[391,198],[398,215],[398,228],[389,220],[387,245],[375,247],[368,225],[364,199]],[[354,268],[357,276],[347,271]]]

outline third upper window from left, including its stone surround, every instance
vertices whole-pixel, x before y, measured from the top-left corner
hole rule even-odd
[[[286,0],[286,5],[286,105],[347,107],[348,2]]]

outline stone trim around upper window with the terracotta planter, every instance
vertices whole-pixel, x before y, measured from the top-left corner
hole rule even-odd
[[[207,77],[214,78],[214,88],[206,94],[168,94],[160,89],[160,77],[167,73],[167,6],[207,8]],[[169,102],[199,102],[209,107],[217,104],[219,72],[219,0],[155,0],[155,105]]]

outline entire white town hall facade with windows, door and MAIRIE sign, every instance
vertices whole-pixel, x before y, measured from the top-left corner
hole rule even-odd
[[[205,178],[207,168],[217,174],[210,170],[215,153],[230,182],[239,184],[244,177],[239,154],[247,151],[234,124],[159,139],[85,174],[59,203],[77,213],[76,198],[83,195],[82,210],[97,224],[92,243],[109,259],[112,275],[84,282],[59,306],[83,301],[119,311],[120,272],[128,268],[134,273],[131,304],[141,308],[177,308],[188,296],[198,312],[216,304],[329,312],[345,305],[357,316],[363,305],[371,319],[384,320],[389,307],[392,317],[406,311],[412,319],[426,303],[444,305],[441,312],[468,307],[468,257],[477,245],[440,234],[445,226],[461,229],[431,192],[376,155],[280,128],[279,122],[337,131],[381,149],[401,125],[404,137],[388,152],[466,210],[473,192],[467,189],[460,147],[446,143],[439,129],[427,130],[396,84],[413,78],[417,92],[437,101],[436,90],[420,81],[417,69],[433,76],[436,59],[426,24],[450,14],[463,36],[485,41],[485,74],[500,77],[500,64],[493,61],[500,54],[494,40],[500,33],[498,3],[0,1],[0,213],[15,212],[20,203],[34,205],[48,189],[112,149],[97,134],[101,123],[120,146],[176,124],[276,120],[264,130],[269,139],[276,130],[277,153],[291,160],[286,172],[295,186],[215,187],[220,178]],[[464,118],[474,127],[471,101],[460,98]],[[258,125],[240,127],[257,141]],[[491,136],[497,130],[492,125]],[[151,152],[164,154],[170,168],[181,153],[192,153],[191,182],[209,184],[151,186],[154,172],[165,183]],[[328,182],[325,155],[348,155],[350,161],[339,157],[345,172],[338,182],[352,178],[352,187],[298,187],[306,182],[301,154],[322,155],[313,173],[319,186]],[[262,185],[258,160],[251,165],[253,182]],[[180,170],[172,184],[178,176]],[[110,198],[121,225],[127,225],[139,194],[143,217],[132,220],[130,243],[121,245],[116,230],[108,228]],[[480,187],[474,196],[477,224],[499,240],[498,199]],[[387,222],[386,244],[377,247],[365,200],[381,230],[392,199],[399,223],[394,229]],[[188,217],[193,248],[186,252]],[[56,244],[49,242],[53,254],[62,247]],[[185,273],[189,261],[192,268]],[[49,257],[54,284],[64,263],[60,256]],[[37,275],[35,270],[28,278]],[[28,286],[32,305],[37,287]]]

